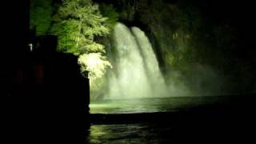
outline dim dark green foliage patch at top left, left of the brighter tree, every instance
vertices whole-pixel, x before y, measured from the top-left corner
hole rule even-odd
[[[36,29],[37,35],[47,34],[50,28],[52,0],[30,1],[30,30]]]

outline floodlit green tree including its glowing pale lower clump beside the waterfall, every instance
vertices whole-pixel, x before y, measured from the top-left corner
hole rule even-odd
[[[110,66],[105,47],[95,41],[96,37],[109,34],[106,19],[91,0],[64,0],[52,18],[50,32],[58,36],[58,50],[78,55],[82,71],[90,72],[90,82]]]

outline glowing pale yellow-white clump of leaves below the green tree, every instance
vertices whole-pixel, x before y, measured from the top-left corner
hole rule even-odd
[[[82,71],[89,71],[90,84],[96,78],[102,78],[106,68],[112,68],[110,62],[101,53],[82,54],[78,58],[78,62],[82,65]]]

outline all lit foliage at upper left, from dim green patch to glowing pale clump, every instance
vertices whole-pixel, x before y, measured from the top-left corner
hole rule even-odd
[[[58,36],[57,50],[78,55],[82,73],[89,71],[91,83],[111,66],[105,46],[96,41],[110,33],[107,19],[91,0],[31,0],[30,3],[30,30],[35,30],[37,36]]]

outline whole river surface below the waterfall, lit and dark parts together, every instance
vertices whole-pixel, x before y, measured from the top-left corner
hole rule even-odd
[[[92,115],[114,115],[112,118],[128,118],[124,122],[92,122],[87,143],[233,143],[253,140],[255,130],[254,99],[246,98],[157,98],[134,100],[109,100],[94,103],[91,112],[106,113]],[[226,101],[226,102],[225,102]],[[252,101],[253,103],[250,103]],[[208,104],[217,102],[207,108]],[[218,103],[221,102],[221,103]],[[220,104],[220,105],[218,105]],[[224,104],[224,105],[222,105]],[[138,106],[139,105],[139,106]],[[148,111],[180,110],[184,107],[206,105],[185,113],[153,113],[149,114],[159,121],[132,121],[133,113]],[[98,107],[97,107],[98,106]],[[123,106],[123,107],[122,107]],[[220,106],[220,107],[218,107]],[[205,109],[206,108],[206,109]],[[215,109],[216,110],[213,110]],[[195,111],[194,111],[195,110]],[[201,111],[202,110],[202,111]],[[195,112],[195,113],[194,113]],[[161,115],[163,114],[163,115]],[[124,115],[126,117],[124,117]],[[128,115],[128,116],[127,116]],[[147,114],[135,114],[145,116]],[[137,118],[137,117],[134,117]],[[146,117],[150,118],[150,117]],[[134,123],[133,123],[134,122]],[[240,141],[239,141],[240,140]],[[242,141],[241,141],[242,140]],[[248,143],[248,142],[247,142]]]

